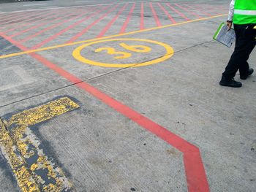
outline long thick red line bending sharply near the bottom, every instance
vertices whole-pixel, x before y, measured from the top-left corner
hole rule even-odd
[[[10,41],[12,44],[19,47],[21,50],[28,50],[27,47],[20,45],[20,43],[15,42],[10,37],[6,37],[4,34],[0,33],[2,37]],[[52,69],[57,74],[61,75],[61,77],[66,78],[69,82],[74,83],[78,88],[83,89],[87,93],[90,93],[92,96],[96,97],[103,103],[107,104],[109,107],[112,107],[117,112],[121,113],[125,117],[137,123],[139,126],[146,128],[148,131],[151,131],[152,134],[156,135],[160,139],[164,140],[168,144],[175,147],[177,150],[180,150],[184,153],[183,161],[185,172],[187,176],[187,186],[189,192],[209,192],[208,181],[206,177],[206,172],[203,166],[203,161],[200,156],[200,150],[191,143],[186,140],[178,137],[176,134],[168,131],[166,128],[160,126],[154,121],[146,118],[141,115],[139,112],[132,110],[127,107],[125,104],[122,104],[120,101],[116,101],[110,96],[102,93],[97,88],[89,85],[83,80],[80,80],[73,74],[65,71],[59,66],[56,66],[52,62],[48,61],[46,58],[43,58],[41,55],[37,53],[29,53],[32,58],[35,58],[37,61],[40,61],[42,64],[47,66],[49,69]]]

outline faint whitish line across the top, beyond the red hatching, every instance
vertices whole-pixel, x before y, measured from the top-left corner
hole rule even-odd
[[[132,4],[134,2],[136,3],[142,3],[142,2],[155,2],[155,1],[161,1],[161,0],[151,0],[151,1],[130,1],[130,2],[121,2],[118,4]],[[87,4],[87,5],[77,5],[77,6],[69,6],[69,7],[56,7],[56,8],[49,8],[49,9],[69,9],[69,8],[75,8],[75,7],[94,7],[94,6],[101,6],[101,5],[112,5],[112,4]],[[13,11],[13,12],[29,12],[29,11],[43,11],[43,10],[49,10],[49,9],[29,9],[29,10],[20,10],[20,11]],[[0,12],[0,14],[9,13],[9,12]]]

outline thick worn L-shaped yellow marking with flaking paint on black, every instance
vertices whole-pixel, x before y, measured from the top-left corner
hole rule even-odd
[[[24,110],[4,120],[4,123],[0,122],[0,147],[21,191],[68,191],[72,188],[61,169],[40,148],[39,139],[29,126],[78,107],[74,101],[64,97]]]

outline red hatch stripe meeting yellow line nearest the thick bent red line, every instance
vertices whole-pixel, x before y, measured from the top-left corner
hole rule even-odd
[[[100,7],[100,6],[99,6]],[[110,6],[108,6],[110,7]],[[64,34],[66,31],[69,31],[69,29],[74,28],[75,26],[78,26],[80,23],[83,23],[85,20],[88,20],[89,18],[93,17],[94,15],[97,15],[99,12],[104,11],[105,9],[108,9],[108,7],[104,7],[103,9],[99,9],[97,12],[94,12],[93,14],[87,16],[86,18],[83,18],[81,20],[78,20],[78,22],[72,24],[71,26],[68,26],[67,28],[64,28],[63,30],[59,31],[59,33],[54,34],[51,37],[48,37],[48,39],[43,40],[42,42],[40,42],[39,44],[35,45],[34,47],[32,47],[31,49],[37,49],[39,47],[42,47],[42,45],[45,45],[46,43],[52,41],[53,39],[55,39],[56,37],[59,37],[61,34]],[[94,8],[96,9],[96,8]],[[91,12],[94,11],[94,9],[91,9]]]

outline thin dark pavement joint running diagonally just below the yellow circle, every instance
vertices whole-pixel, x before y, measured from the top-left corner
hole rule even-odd
[[[182,50],[177,50],[175,53],[181,53],[181,52],[184,51],[184,50],[189,50],[189,49],[191,49],[191,48],[193,48],[193,47],[197,47],[197,46],[200,46],[200,45],[203,45],[203,44],[206,44],[206,43],[211,43],[211,42],[214,42],[214,40],[211,40],[211,41],[208,41],[208,42],[202,42],[202,43],[200,43],[200,44],[193,45],[193,46],[191,46],[191,47],[187,47],[187,48],[184,48],[184,49],[182,49]],[[157,57],[157,58],[160,58],[160,57],[161,57],[161,56],[159,56],[159,57]],[[152,58],[151,60],[154,60],[154,59],[156,59],[156,58]],[[148,60],[148,61],[151,61],[151,60]],[[143,62],[144,62],[144,61],[143,61]],[[135,65],[133,65],[133,66],[136,66],[136,65],[139,65],[139,64],[140,64],[140,63],[135,64]],[[55,89],[53,89],[53,90],[46,91],[46,92],[43,92],[43,93],[39,93],[39,94],[36,94],[36,95],[34,95],[34,96],[29,96],[29,97],[27,97],[27,98],[25,98],[25,99],[20,99],[20,100],[17,100],[17,101],[13,101],[13,102],[11,102],[11,103],[9,103],[9,104],[1,105],[0,108],[1,108],[1,107],[7,107],[7,106],[10,106],[10,105],[12,105],[12,104],[17,104],[17,103],[19,103],[19,102],[21,102],[21,101],[26,101],[26,100],[28,100],[28,99],[35,98],[35,97],[37,97],[37,96],[42,96],[42,95],[45,95],[45,94],[48,94],[48,93],[53,93],[54,91],[59,91],[59,90],[64,89],[64,88],[69,88],[69,87],[72,87],[72,86],[74,86],[74,85],[78,85],[78,84],[81,83],[81,82],[89,82],[90,80],[97,80],[97,79],[100,78],[100,77],[105,77],[105,76],[107,76],[108,74],[113,74],[113,73],[115,73],[115,72],[119,72],[119,71],[122,71],[122,70],[125,70],[125,69],[129,69],[129,68],[132,68],[133,66],[127,66],[127,67],[123,67],[123,68],[120,68],[120,69],[116,69],[116,70],[114,70],[114,71],[112,71],[112,72],[108,72],[108,73],[105,73],[105,74],[100,74],[100,75],[97,75],[96,77],[91,77],[91,78],[86,79],[86,80],[81,80],[80,82],[75,82],[75,83],[71,83],[71,84],[69,84],[69,85],[62,86],[61,88],[55,88]]]

